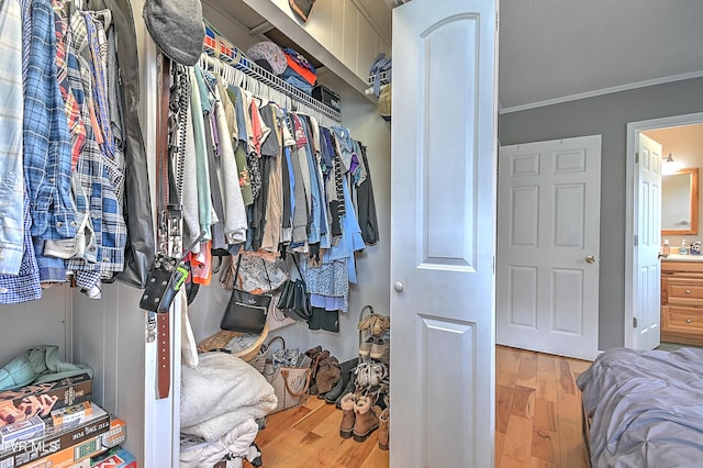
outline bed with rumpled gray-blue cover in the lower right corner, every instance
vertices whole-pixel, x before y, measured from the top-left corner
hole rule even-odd
[[[610,349],[577,385],[593,467],[703,467],[703,349]]]

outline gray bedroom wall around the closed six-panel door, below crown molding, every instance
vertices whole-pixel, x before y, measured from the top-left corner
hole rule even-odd
[[[627,123],[703,111],[703,78],[499,115],[501,145],[602,135],[599,348],[624,344]]]

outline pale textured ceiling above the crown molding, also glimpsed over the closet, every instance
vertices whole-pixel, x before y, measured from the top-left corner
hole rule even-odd
[[[390,27],[392,1],[354,1]],[[500,0],[503,112],[696,76],[701,0]]]

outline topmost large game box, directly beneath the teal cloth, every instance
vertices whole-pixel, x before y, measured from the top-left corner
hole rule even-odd
[[[90,401],[91,397],[92,379],[88,374],[4,390],[0,392],[0,426],[35,415],[48,419],[52,410]]]

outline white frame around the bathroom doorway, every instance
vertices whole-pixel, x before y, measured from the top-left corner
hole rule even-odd
[[[634,205],[635,200],[635,148],[637,147],[637,135],[647,130],[662,129],[667,126],[680,126],[703,123],[703,112],[691,114],[671,115],[666,118],[641,120],[627,123],[627,167],[625,170],[625,336],[624,345],[632,348],[635,343],[635,330],[633,328],[633,317],[635,316],[635,235],[639,232],[639,226],[635,225],[635,213],[639,207]],[[639,201],[639,199],[638,199]]]

